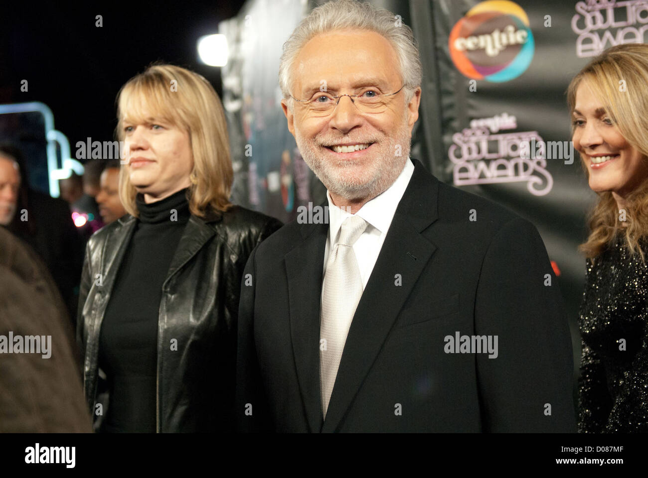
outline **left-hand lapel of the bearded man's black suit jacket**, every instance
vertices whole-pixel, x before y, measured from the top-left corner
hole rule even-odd
[[[285,256],[290,336],[297,380],[311,432],[321,429],[323,419],[319,396],[319,306],[328,231],[327,223],[302,225],[303,242]]]

